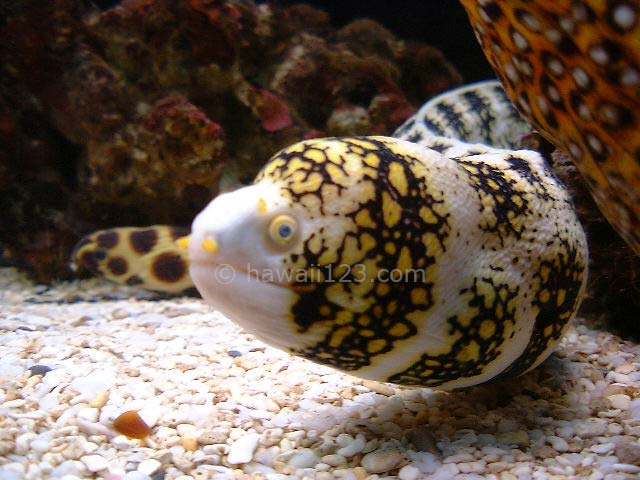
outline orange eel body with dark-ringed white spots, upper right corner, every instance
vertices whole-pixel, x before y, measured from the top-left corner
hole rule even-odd
[[[511,100],[640,254],[640,3],[461,3]]]

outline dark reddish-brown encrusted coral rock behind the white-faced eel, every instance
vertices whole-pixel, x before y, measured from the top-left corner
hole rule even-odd
[[[220,182],[251,181],[280,148],[390,134],[461,83],[438,50],[370,20],[335,30],[305,5],[28,0],[3,12],[2,246],[40,281],[68,275],[87,231],[187,225]]]

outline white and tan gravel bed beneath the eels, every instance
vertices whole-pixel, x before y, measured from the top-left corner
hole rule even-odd
[[[132,292],[0,269],[0,479],[640,478],[640,347],[607,332],[578,324],[532,374],[443,393],[343,375],[197,299]],[[147,440],[113,430],[127,410]]]

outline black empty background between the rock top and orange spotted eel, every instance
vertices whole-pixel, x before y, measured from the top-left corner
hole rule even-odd
[[[117,5],[114,0],[95,0],[100,8]],[[265,3],[265,2],[258,2]],[[305,3],[324,10],[339,27],[357,18],[373,18],[402,39],[420,40],[438,47],[464,77],[465,82],[494,77],[457,0],[369,0],[289,1],[273,0],[280,6]]]

